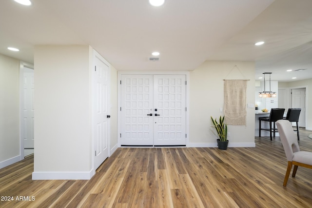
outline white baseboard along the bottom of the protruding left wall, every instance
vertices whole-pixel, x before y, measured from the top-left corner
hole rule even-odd
[[[32,180],[90,180],[94,175],[89,172],[33,172]]]

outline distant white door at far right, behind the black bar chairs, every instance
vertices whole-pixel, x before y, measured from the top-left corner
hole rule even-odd
[[[306,88],[292,89],[292,108],[301,108],[298,126],[306,127]]]

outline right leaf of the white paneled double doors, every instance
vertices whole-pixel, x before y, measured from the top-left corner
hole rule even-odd
[[[186,145],[185,82],[185,75],[154,76],[154,108],[157,109],[154,114],[156,146]]]

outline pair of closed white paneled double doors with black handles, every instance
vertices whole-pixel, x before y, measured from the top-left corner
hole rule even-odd
[[[186,145],[186,76],[121,75],[121,146]]]

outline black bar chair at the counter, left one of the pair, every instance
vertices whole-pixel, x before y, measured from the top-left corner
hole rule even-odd
[[[272,132],[273,137],[275,138],[275,132],[277,132],[277,128],[275,127],[275,122],[283,119],[285,108],[272,108],[269,117],[259,117],[259,137],[261,137],[261,130],[270,131],[270,138],[272,140]],[[261,121],[269,122],[270,128],[261,128]],[[273,128],[272,128],[273,123]]]

